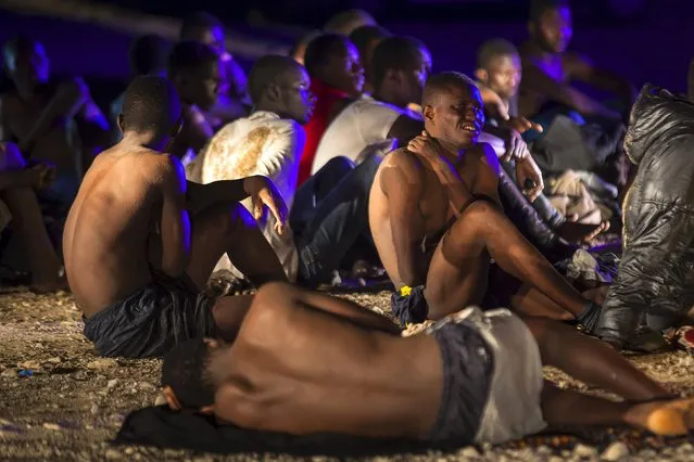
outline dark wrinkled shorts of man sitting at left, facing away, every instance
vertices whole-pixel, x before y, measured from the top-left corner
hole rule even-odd
[[[215,335],[215,301],[192,283],[156,274],[143,290],[85,319],[85,336],[104,357],[163,356],[186,339]]]

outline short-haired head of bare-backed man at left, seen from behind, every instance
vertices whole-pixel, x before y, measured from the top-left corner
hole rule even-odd
[[[180,101],[164,77],[138,76],[123,99],[123,131],[172,131],[180,119]]]

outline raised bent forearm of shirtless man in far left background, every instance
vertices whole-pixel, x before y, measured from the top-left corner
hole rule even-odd
[[[35,120],[28,134],[20,140],[22,152],[29,153],[34,143],[48,131],[56,119],[71,119],[86,101],[84,82],[74,79],[61,84],[41,115]]]

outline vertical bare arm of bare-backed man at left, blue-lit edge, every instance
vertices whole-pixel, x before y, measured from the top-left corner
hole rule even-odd
[[[186,174],[173,156],[166,156],[162,167],[162,271],[180,277],[190,260],[190,218],[186,210]]]

